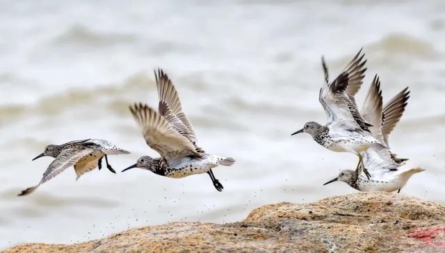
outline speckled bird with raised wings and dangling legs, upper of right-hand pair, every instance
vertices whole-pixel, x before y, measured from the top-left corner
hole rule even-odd
[[[318,100],[327,115],[327,122],[323,126],[317,122],[306,122],[304,127],[291,135],[309,133],[312,138],[323,147],[334,152],[350,152],[359,157],[357,168],[364,170],[362,154],[369,147],[385,149],[385,145],[375,139],[366,122],[357,109],[355,94],[361,87],[366,72],[366,59],[362,49],[348,63],[345,70],[330,83],[329,73],[325,59],[322,56],[321,63],[325,82],[323,83]]]

